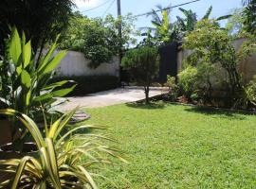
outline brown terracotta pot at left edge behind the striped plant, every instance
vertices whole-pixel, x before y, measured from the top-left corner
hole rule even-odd
[[[0,120],[0,146],[11,143],[11,129],[9,120]]]

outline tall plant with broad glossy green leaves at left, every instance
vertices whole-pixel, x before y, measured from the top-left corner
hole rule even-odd
[[[75,84],[61,89],[72,81],[63,80],[48,84],[55,73],[55,68],[66,55],[65,51],[54,54],[57,48],[56,42],[49,48],[46,56],[37,63],[31,42],[27,41],[24,33],[20,37],[16,27],[12,27],[6,53],[0,66],[3,89],[0,93],[0,101],[5,103],[6,107],[35,118],[38,114],[41,115],[38,112],[42,109],[47,114],[56,103],[56,97],[63,97],[73,91]],[[17,130],[16,127],[12,132],[15,130]],[[26,129],[23,130],[26,131]]]

